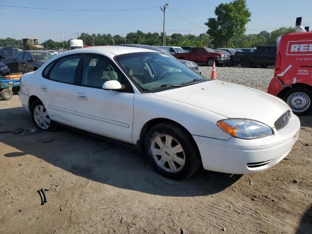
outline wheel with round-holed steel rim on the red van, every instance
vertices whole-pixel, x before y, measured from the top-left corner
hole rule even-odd
[[[305,115],[312,111],[312,91],[310,89],[304,87],[292,88],[285,93],[283,100],[297,116]]]

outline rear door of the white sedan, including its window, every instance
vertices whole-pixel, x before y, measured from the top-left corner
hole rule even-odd
[[[76,127],[75,79],[81,54],[61,57],[43,70],[39,82],[43,103],[54,121]]]

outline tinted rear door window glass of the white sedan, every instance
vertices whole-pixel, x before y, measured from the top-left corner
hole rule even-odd
[[[66,56],[55,64],[49,73],[49,79],[73,84],[81,55]]]

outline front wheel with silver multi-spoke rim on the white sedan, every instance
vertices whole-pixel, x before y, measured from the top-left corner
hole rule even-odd
[[[157,124],[148,132],[144,143],[149,159],[162,176],[185,179],[201,165],[194,140],[176,125]],[[176,149],[176,153],[172,149]]]

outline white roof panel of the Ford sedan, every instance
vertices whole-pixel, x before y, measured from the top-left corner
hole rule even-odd
[[[129,47],[128,46],[114,46],[114,45],[92,46],[92,47],[87,47],[87,48],[83,48],[83,49],[77,49],[74,51],[82,52],[84,50],[103,51],[103,52],[108,52],[108,53],[111,53],[114,55],[123,55],[123,54],[136,53],[136,52],[156,52],[156,53],[159,53],[155,50],[149,50],[149,49],[145,49],[145,48],[130,47],[130,46]]]

